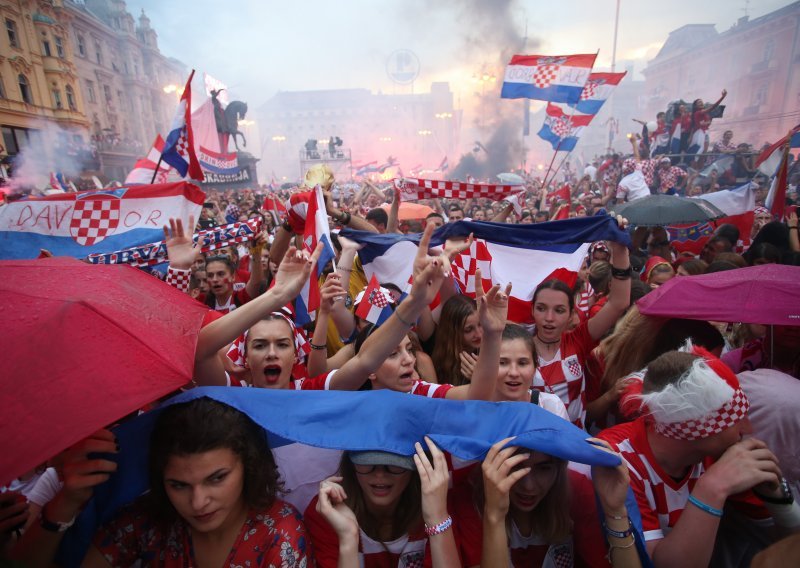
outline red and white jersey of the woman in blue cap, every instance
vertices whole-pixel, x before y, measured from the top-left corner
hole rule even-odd
[[[303,522],[314,547],[319,568],[336,568],[339,562],[339,537],[317,512],[318,497],[306,508]],[[429,568],[432,566],[428,538],[422,527],[391,542],[378,542],[359,529],[358,565],[362,568]]]

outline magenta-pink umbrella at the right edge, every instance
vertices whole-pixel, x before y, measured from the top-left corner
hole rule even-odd
[[[636,305],[648,316],[800,325],[800,267],[765,264],[672,278]]]

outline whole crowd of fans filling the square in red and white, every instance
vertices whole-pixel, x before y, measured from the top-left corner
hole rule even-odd
[[[632,158],[610,156],[547,186],[527,180],[518,204],[436,199],[425,203],[432,209],[425,218],[401,220],[393,186],[366,182],[350,191],[317,166],[299,188],[209,191],[196,224],[171,220],[164,229],[166,284],[209,310],[187,389],[388,390],[536,405],[595,436],[590,441],[620,456],[620,465],[588,471],[506,436],[481,461],[458,466],[429,438],[418,440],[414,455],[353,448],[298,510],[286,501],[264,430],[239,410],[199,398],[161,411],[150,489],[98,529],[84,565],[800,561],[793,498],[800,422],[796,407],[778,404],[800,400],[800,327],[651,318],[635,304],[672,278],[800,265],[796,213],[773,219],[760,190],[749,249],[737,249],[741,235],[722,225],[697,257],[677,253],[665,228],[629,228],[618,217],[633,247],[622,239],[592,243],[577,275],[536,287],[528,326],[508,321],[510,286],[484,289],[480,272],[474,297],[454,285],[450,263],[471,239],[430,246],[434,230],[464,219],[592,216],[639,191],[692,195],[727,183],[647,157],[641,140],[631,140]],[[726,133],[715,151],[731,148]],[[631,181],[634,173],[641,179]],[[303,251],[306,220],[288,201],[315,185],[323,188],[336,260],[322,267],[320,308],[303,327],[293,301],[320,250]],[[193,231],[254,217],[263,232],[249,243],[204,254],[193,246]],[[410,289],[382,283],[376,292],[393,308],[381,325],[355,315],[367,278],[361,245],[338,234],[344,227],[422,233]],[[440,313],[431,309],[435,299]],[[4,557],[50,565],[93,489],[115,475],[118,452],[109,426],[4,488]],[[626,501],[629,490],[635,505]]]

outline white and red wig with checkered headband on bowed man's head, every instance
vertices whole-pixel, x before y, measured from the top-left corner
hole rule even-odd
[[[736,375],[697,347],[700,357],[678,381],[659,392],[636,394],[656,432],[675,440],[700,440],[727,430],[747,416],[750,401]],[[628,402],[628,401],[626,401]]]

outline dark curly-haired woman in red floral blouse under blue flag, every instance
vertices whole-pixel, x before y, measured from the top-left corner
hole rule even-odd
[[[48,564],[61,527],[115,469],[90,459],[89,452],[114,453],[113,434],[98,434],[64,466],[64,489],[26,535],[40,555],[26,565]],[[277,498],[266,433],[238,410],[206,398],[165,408],[150,438],[149,474],[150,492],[96,532],[82,566],[313,565],[300,514]]]

